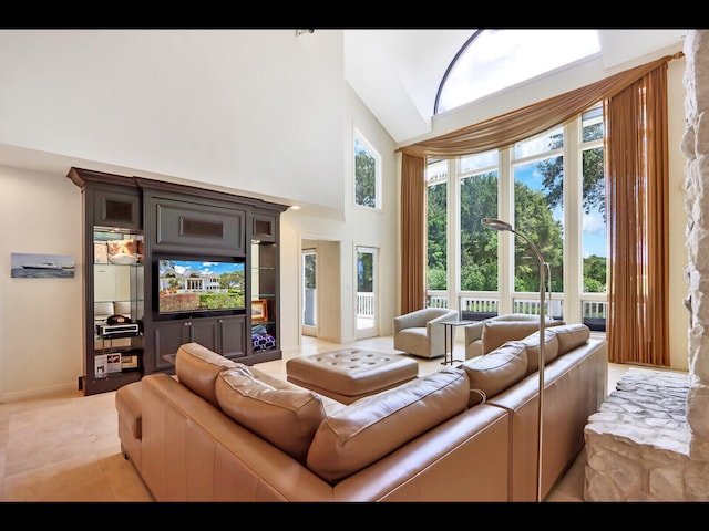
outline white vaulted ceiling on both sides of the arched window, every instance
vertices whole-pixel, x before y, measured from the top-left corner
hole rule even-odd
[[[316,30],[317,31],[317,30]],[[397,143],[431,131],[443,74],[466,30],[346,30],[345,76]],[[686,30],[598,30],[605,69],[681,41]]]

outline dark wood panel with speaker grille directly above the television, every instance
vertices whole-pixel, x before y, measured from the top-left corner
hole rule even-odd
[[[179,250],[185,247],[216,253],[244,254],[243,210],[196,205],[169,199],[151,199],[155,216],[153,249]]]

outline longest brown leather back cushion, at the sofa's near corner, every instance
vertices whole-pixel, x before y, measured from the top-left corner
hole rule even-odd
[[[469,394],[465,372],[445,367],[360,398],[320,424],[307,466],[335,485],[463,412]]]

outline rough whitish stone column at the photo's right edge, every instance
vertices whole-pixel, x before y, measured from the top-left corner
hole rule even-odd
[[[709,30],[685,38],[685,210],[689,263],[686,269],[691,313],[687,423],[690,456],[709,460]]]

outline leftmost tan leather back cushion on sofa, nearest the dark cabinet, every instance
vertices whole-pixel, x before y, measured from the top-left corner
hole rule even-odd
[[[199,343],[185,343],[175,356],[175,375],[182,385],[219,407],[214,384],[222,371],[243,364],[233,362]]]

